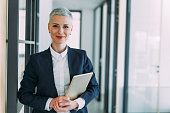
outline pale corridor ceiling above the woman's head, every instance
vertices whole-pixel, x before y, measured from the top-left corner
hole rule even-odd
[[[70,10],[95,9],[104,0],[53,0],[53,8],[66,7]]]

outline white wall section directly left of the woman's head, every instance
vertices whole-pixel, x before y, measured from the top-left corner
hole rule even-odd
[[[47,49],[51,44],[51,38],[48,32],[48,20],[51,10],[52,0],[40,0],[39,51]]]

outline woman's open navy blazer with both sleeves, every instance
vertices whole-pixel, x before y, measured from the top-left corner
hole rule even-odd
[[[92,63],[84,50],[68,47],[67,54],[70,80],[74,75],[93,72]],[[33,113],[56,113],[54,110],[44,110],[49,97],[58,97],[54,83],[50,48],[31,55],[20,84],[21,87],[18,92],[19,101],[33,107]],[[35,91],[35,88],[37,91]],[[86,106],[98,95],[98,92],[98,83],[93,74],[86,91],[79,96],[85,100],[85,106],[78,111],[71,110],[71,113],[88,113]]]

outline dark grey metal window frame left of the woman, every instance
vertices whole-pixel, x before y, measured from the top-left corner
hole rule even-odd
[[[17,113],[18,108],[18,44],[25,44],[25,64],[31,54],[38,52],[39,0],[26,0],[25,25],[26,40],[19,40],[19,0],[8,0],[7,113]],[[31,112],[32,108],[24,106],[24,113]]]

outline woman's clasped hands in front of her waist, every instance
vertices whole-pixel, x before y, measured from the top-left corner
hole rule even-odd
[[[78,108],[78,103],[70,100],[66,96],[60,96],[52,99],[50,107],[52,107],[56,112],[67,112]]]

